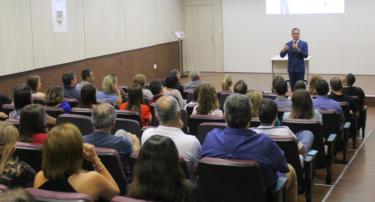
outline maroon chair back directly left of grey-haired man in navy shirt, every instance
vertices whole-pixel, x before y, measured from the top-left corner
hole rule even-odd
[[[89,135],[93,133],[94,127],[91,122],[91,117],[74,115],[74,114],[63,114],[56,118],[56,124],[61,123],[73,123],[80,129],[82,135]]]

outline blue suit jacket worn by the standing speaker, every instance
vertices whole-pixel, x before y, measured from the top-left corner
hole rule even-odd
[[[297,43],[299,52],[293,51],[293,41],[287,42],[285,45],[289,46],[289,49],[285,52],[280,52],[280,57],[285,57],[288,54],[288,72],[305,72],[305,61],[304,58],[309,56],[309,48],[307,47],[307,42],[299,40]]]

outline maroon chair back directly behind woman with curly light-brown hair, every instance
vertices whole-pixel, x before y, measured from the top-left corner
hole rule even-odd
[[[222,116],[214,116],[214,115],[198,115],[192,114],[188,119],[189,123],[189,134],[196,136],[198,126],[204,122],[221,122],[225,123],[225,119]]]

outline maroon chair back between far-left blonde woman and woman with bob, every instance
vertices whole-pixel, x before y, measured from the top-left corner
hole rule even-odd
[[[13,158],[18,157],[19,161],[24,161],[39,172],[42,170],[42,148],[43,144],[17,142],[17,149],[13,153]]]

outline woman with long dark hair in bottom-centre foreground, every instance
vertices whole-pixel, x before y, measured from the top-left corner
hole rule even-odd
[[[155,202],[206,202],[196,184],[186,179],[171,138],[154,135],[143,143],[127,197]]]

